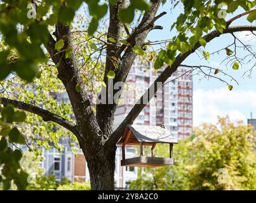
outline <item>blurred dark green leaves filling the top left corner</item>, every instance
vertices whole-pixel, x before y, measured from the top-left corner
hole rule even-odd
[[[100,0],[46,0],[39,4],[30,0],[6,0],[0,4],[0,32],[10,48],[15,48],[18,60],[8,62],[10,49],[0,51],[0,80],[14,71],[29,82],[37,73],[37,63],[47,62],[46,55],[41,48],[50,34],[48,26],[55,25],[57,20],[62,23],[71,23],[76,11],[84,2],[88,6],[92,20],[88,27],[88,34],[92,36],[98,28],[98,22],[108,10],[107,3],[100,4]],[[115,3],[116,1],[111,1]],[[33,6],[34,5],[34,6]],[[133,19],[135,9],[148,10],[149,4],[145,0],[131,0],[131,5],[123,10]],[[133,13],[130,13],[130,11]],[[122,18],[123,19],[123,18]],[[126,20],[126,17],[124,17]],[[30,39],[30,40],[29,40]],[[64,46],[63,39],[55,45],[58,51]]]

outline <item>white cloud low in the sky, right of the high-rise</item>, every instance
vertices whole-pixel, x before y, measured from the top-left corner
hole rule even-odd
[[[251,110],[256,109],[256,91],[229,91],[196,89],[193,95],[194,126],[201,122],[217,122],[217,116],[229,115],[232,121],[246,121]]]

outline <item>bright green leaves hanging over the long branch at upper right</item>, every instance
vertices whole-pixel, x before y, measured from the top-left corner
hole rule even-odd
[[[175,6],[177,6],[176,3]],[[227,13],[233,13],[239,6],[245,11],[249,11],[255,6],[255,1],[194,1],[194,0],[182,0],[184,6],[184,13],[181,13],[177,18],[177,21],[173,23],[171,29],[176,29],[178,35],[173,37],[172,42],[166,46],[166,52],[161,52],[155,61],[154,68],[159,69],[163,66],[163,63],[172,65],[177,55],[168,55],[168,51],[177,51],[181,55],[191,51],[195,44],[199,43],[205,48],[206,39],[203,38],[203,34],[207,34],[210,30],[215,28],[220,33],[226,29],[227,22],[222,16],[220,5],[227,6]],[[174,8],[175,8],[174,6]],[[255,11],[252,11],[247,20],[253,22],[255,20]],[[226,49],[227,55],[232,55],[231,49]],[[208,60],[210,53],[206,50],[201,50],[204,58]],[[166,60],[168,59],[168,60]],[[238,62],[235,62],[238,64]],[[238,69],[238,66],[233,66],[233,69]]]

